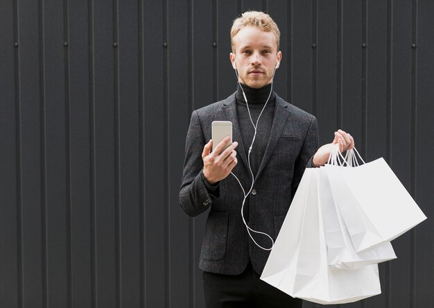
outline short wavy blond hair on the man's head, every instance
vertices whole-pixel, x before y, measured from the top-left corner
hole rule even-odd
[[[256,28],[259,28],[259,30],[261,30],[261,31],[272,32],[276,37],[277,51],[279,51],[280,31],[279,31],[279,27],[277,27],[277,24],[275,23],[275,21],[272,20],[270,15],[268,15],[264,12],[257,12],[254,10],[250,10],[248,12],[244,12],[241,15],[241,17],[234,19],[234,24],[232,24],[232,28],[231,28],[232,52],[235,53],[234,37],[245,26],[254,26]]]

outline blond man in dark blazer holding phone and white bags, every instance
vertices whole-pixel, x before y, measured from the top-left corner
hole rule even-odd
[[[354,147],[352,137],[338,130],[316,151],[315,117],[272,92],[279,37],[263,12],[235,19],[229,58],[238,89],[191,116],[180,206],[190,216],[211,207],[199,264],[209,308],[302,307],[301,300],[259,280],[272,247],[266,234],[276,239],[306,167],[325,164],[333,144],[341,151]],[[234,142],[224,151],[229,137],[211,151],[212,121],[232,122]]]

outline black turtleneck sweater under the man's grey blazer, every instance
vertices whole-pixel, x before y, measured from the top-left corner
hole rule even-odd
[[[253,123],[257,125],[259,114],[261,114],[262,108],[268,99],[268,95],[270,95],[271,84],[261,87],[260,89],[253,89],[244,84],[241,84],[241,86],[243,87],[249,106],[247,106],[243,92],[241,92],[241,88],[238,85],[238,89],[236,90],[236,112],[238,114],[238,123],[241,130],[241,138],[243,139],[245,155],[247,156],[254,136],[254,127],[252,121],[250,121],[248,107]],[[257,136],[254,139],[252,152],[250,153],[250,165],[252,166],[254,176],[256,176],[259,169],[262,157],[266,151],[268,139],[270,138],[272,119],[275,113],[275,101],[276,96],[275,93],[272,92],[257,125]]]

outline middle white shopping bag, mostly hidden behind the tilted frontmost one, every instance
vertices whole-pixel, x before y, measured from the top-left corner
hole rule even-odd
[[[379,246],[356,253],[347,226],[342,219],[342,214],[340,214],[340,210],[334,201],[327,170],[329,169],[320,168],[318,191],[323,213],[329,265],[354,270],[369,264],[378,264],[395,259],[397,256],[390,242],[381,243]]]

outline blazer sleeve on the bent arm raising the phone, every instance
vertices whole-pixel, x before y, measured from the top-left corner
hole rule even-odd
[[[198,112],[194,111],[191,114],[189,131],[186,136],[184,170],[179,195],[180,207],[189,216],[205,212],[212,201],[219,196],[218,185],[213,186],[213,189],[208,189],[205,178],[202,176],[204,146],[205,136]]]

